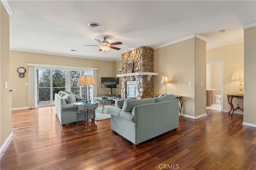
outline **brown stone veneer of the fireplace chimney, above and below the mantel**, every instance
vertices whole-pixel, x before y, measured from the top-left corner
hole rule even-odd
[[[150,47],[139,47],[132,51],[122,54],[122,72],[126,73],[128,61],[133,61],[133,71],[136,72],[153,72],[153,49]],[[122,97],[126,98],[126,81],[138,81],[138,99],[154,97],[154,78],[151,76],[148,81],[148,76],[126,76],[122,77]]]

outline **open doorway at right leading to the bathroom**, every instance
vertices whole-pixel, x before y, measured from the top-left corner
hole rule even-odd
[[[212,89],[215,92],[214,102],[207,109],[223,111],[224,94],[224,61],[206,62],[206,89]]]

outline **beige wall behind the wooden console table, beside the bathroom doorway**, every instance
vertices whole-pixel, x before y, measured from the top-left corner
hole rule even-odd
[[[226,94],[238,94],[238,81],[231,80],[232,74],[236,68],[244,67],[244,44],[237,43],[224,47],[209,49],[206,51],[206,61],[224,61],[224,111],[229,111]],[[243,106],[243,100],[234,98],[233,104]],[[238,111],[236,111],[238,113]],[[240,111],[239,111],[240,112]],[[242,112],[241,112],[242,113]]]

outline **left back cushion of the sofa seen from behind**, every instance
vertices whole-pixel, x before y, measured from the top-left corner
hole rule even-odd
[[[123,111],[132,111],[134,106],[141,105],[141,104],[149,104],[149,103],[154,103],[155,99],[154,98],[148,98],[148,99],[126,99],[124,101],[123,105]]]

